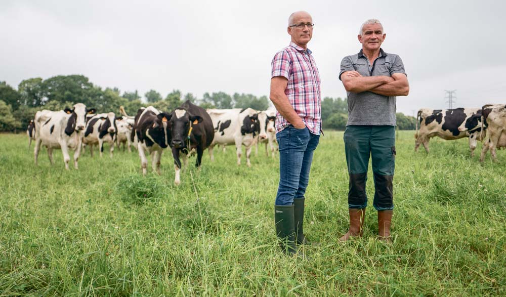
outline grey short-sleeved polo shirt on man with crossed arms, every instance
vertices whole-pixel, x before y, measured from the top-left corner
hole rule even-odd
[[[392,76],[394,73],[404,73],[404,64],[399,56],[387,54],[379,49],[377,57],[372,65],[369,59],[363,55],[362,50],[358,54],[344,57],[341,61],[341,74],[346,71],[357,71],[362,76]],[[352,93],[348,92],[348,123],[349,125],[396,125],[395,96],[383,96],[372,92]]]

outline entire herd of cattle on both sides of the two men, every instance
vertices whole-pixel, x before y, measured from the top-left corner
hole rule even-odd
[[[274,121],[275,110],[257,111],[245,109],[203,109],[186,101],[171,113],[159,111],[153,106],[142,107],[135,116],[120,108],[120,116],[114,112],[96,113],[82,103],[72,109],[60,111],[37,111],[27,130],[30,144],[35,140],[35,164],[43,145],[53,163],[53,149],[61,149],[65,168],[69,168],[69,149],[74,150],[74,167],[85,148],[93,156],[98,145],[100,156],[104,142],[110,145],[112,157],[114,145],[125,146],[131,152],[133,146],[139,152],[142,172],[147,172],[146,154],[151,155],[153,171],[160,174],[160,158],[169,148],[174,157],[175,184],[180,184],[181,159],[187,164],[187,156],[197,155],[196,166],[200,167],[202,154],[208,149],[214,160],[215,146],[235,145],[237,164],[241,163],[242,146],[245,146],[246,164],[251,165],[251,148],[265,143],[274,157],[277,150]],[[418,129],[419,124],[419,129]],[[480,161],[488,150],[496,159],[496,148],[506,147],[506,105],[488,104],[480,108],[456,108],[445,110],[420,109],[416,118],[415,151],[420,144],[429,152],[429,140],[438,136],[445,140],[469,138],[471,155],[477,141],[484,141]],[[258,151],[257,151],[258,152]]]

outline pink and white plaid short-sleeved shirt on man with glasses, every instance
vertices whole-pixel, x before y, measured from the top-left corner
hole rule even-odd
[[[271,78],[284,76],[288,79],[285,94],[291,106],[302,118],[309,131],[320,135],[321,129],[321,91],[320,73],[308,49],[305,51],[295,43],[274,56]],[[290,123],[279,112],[276,113],[276,133]]]

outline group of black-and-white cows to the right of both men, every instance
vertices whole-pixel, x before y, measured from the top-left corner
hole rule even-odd
[[[487,104],[482,108],[418,110],[415,151],[422,144],[428,153],[429,140],[435,136],[445,140],[468,137],[471,156],[474,155],[477,141],[484,141],[480,161],[483,162],[488,150],[496,160],[495,150],[506,147],[506,105]]]

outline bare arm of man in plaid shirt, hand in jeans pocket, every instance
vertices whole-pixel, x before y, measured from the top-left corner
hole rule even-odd
[[[295,112],[288,97],[284,93],[288,79],[284,76],[275,76],[271,78],[271,94],[269,98],[276,107],[279,114],[281,114],[290,124],[297,129],[305,128],[306,124],[302,118]]]

